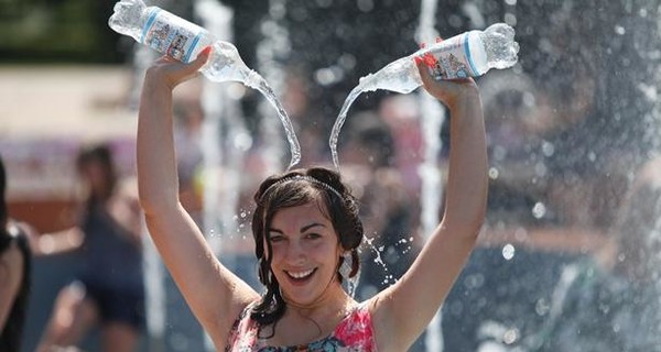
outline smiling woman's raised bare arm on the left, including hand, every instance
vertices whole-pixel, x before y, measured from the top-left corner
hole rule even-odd
[[[147,227],[195,317],[221,350],[231,323],[258,294],[220,264],[178,199],[172,91],[208,58],[162,57],[145,74],[138,122],[138,190]]]

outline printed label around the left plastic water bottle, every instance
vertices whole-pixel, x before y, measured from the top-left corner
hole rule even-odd
[[[204,29],[159,8],[151,10],[141,42],[159,53],[187,63]]]

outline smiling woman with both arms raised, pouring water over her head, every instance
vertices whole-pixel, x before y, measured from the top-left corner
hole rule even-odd
[[[361,302],[344,290],[359,265],[358,204],[337,172],[310,167],[271,176],[254,194],[260,295],[215,256],[178,198],[172,91],[208,56],[203,51],[191,64],[162,57],[147,70],[138,183],[149,233],[216,350],[408,350],[445,299],[484,221],[486,139],[475,82],[435,81],[419,67],[426,91],[453,116],[449,172],[443,220],[399,282]]]

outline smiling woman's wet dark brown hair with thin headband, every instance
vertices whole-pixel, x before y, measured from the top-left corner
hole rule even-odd
[[[296,178],[296,176],[303,177]],[[351,253],[349,277],[358,273],[360,264],[357,248],[362,241],[362,222],[358,217],[358,201],[342,182],[338,173],[323,167],[311,167],[271,176],[260,185],[254,194],[254,202],[257,205],[252,215],[254,254],[259,261],[259,279],[267,287],[261,301],[252,309],[250,316],[259,324],[274,323],[285,310],[280,285],[271,272],[271,257],[267,255],[271,253],[271,242],[267,231],[279,210],[317,202],[319,209],[333,223],[342,248]],[[342,261],[340,258],[339,265]],[[342,282],[342,276],[337,275]]]

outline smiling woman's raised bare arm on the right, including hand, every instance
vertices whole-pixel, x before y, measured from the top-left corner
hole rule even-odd
[[[411,268],[370,301],[380,351],[403,351],[432,320],[481,229],[487,153],[481,102],[473,79],[436,81],[419,64],[424,88],[451,112],[445,213]]]

